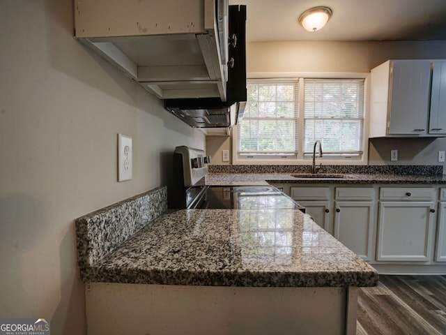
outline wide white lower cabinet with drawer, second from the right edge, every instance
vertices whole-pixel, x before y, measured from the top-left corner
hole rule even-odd
[[[435,199],[434,188],[380,189],[376,260],[431,260]]]

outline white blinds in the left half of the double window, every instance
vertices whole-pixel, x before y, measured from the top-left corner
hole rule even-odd
[[[298,151],[298,81],[248,81],[238,126],[238,153],[283,155]]]

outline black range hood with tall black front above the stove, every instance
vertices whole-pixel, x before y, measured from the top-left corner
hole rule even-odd
[[[229,36],[233,37],[229,45],[226,101],[220,98],[165,99],[164,107],[169,112],[195,128],[226,128],[229,131],[240,121],[247,100],[245,26],[246,6],[229,6]]]

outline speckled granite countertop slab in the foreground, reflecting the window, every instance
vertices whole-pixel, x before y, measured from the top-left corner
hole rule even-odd
[[[378,273],[298,210],[178,210],[84,272],[84,281],[252,287],[374,286]]]

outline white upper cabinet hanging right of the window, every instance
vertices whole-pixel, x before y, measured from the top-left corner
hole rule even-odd
[[[445,135],[445,78],[443,61],[390,60],[372,69],[369,136]]]

